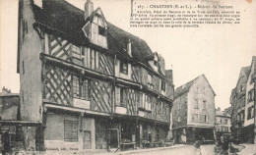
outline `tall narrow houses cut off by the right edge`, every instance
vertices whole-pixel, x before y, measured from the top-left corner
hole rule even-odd
[[[251,66],[241,68],[235,88],[230,95],[231,133],[240,142],[254,141],[254,77],[255,56]]]

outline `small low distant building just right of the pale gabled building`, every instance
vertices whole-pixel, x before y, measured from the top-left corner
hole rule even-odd
[[[219,107],[216,110],[216,136],[218,139],[223,134],[231,134],[231,115],[228,113],[230,108],[221,111]]]

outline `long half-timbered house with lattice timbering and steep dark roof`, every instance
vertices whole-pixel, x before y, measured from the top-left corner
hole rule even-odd
[[[64,0],[20,0],[18,43],[22,120],[40,124],[24,131],[27,150],[166,140],[172,71],[145,40],[108,23],[90,0],[84,10]]]

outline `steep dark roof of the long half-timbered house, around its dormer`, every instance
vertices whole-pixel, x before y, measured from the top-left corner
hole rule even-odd
[[[37,23],[67,34],[76,43],[88,43],[89,40],[82,30],[88,21],[84,18],[84,11],[65,0],[43,0],[42,9],[35,5],[32,8]],[[93,13],[95,14],[96,11]],[[132,57],[147,65],[144,57],[152,54],[152,50],[145,40],[110,23],[107,23],[107,26],[108,52],[116,54],[120,59],[133,60],[126,52],[127,43],[130,39]]]

